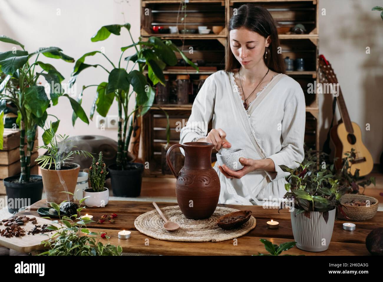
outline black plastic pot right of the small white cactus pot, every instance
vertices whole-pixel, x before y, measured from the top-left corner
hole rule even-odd
[[[108,167],[113,196],[138,197],[141,193],[144,165],[142,163],[128,163],[124,170],[117,170],[116,168],[116,164]]]

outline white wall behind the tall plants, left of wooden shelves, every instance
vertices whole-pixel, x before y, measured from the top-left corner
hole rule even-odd
[[[59,10],[57,10],[59,9]],[[76,60],[83,54],[105,48],[105,55],[113,63],[118,64],[120,48],[131,44],[129,33],[121,29],[121,35],[110,35],[105,41],[91,42],[90,38],[103,25],[131,23],[131,33],[135,41],[139,36],[140,14],[139,1],[121,0],[81,0],[81,1],[52,1],[52,0],[0,0],[0,34],[7,35],[32,52],[39,47],[57,46],[64,54]],[[58,12],[60,15],[58,15]],[[12,45],[0,42],[0,51],[10,50]],[[20,48],[20,47],[18,47]],[[134,48],[126,51],[124,57],[133,54]],[[74,64],[58,59],[39,56],[39,60],[53,64],[69,81]],[[85,63],[102,64],[111,70],[111,64],[101,55],[87,57]],[[131,63],[132,64],[132,63]],[[125,66],[125,65],[124,65]],[[129,67],[129,69],[132,66]],[[45,83],[44,79],[40,80]],[[77,94],[83,85],[99,84],[108,81],[108,73],[100,67],[83,71],[77,79]],[[84,91],[82,107],[89,116],[90,107],[95,97],[97,87],[89,87]],[[76,96],[77,97],[77,96]],[[74,98],[76,98],[74,97]],[[133,102],[129,105],[133,110]],[[59,104],[47,110],[48,114],[56,115],[60,120],[59,133],[69,135],[103,135],[117,140],[116,129],[101,131],[95,126],[96,115],[89,125],[77,119],[72,126],[72,108],[66,97],[59,98]],[[117,115],[116,102],[110,109],[110,114]],[[39,132],[39,144],[42,144],[42,131]]]

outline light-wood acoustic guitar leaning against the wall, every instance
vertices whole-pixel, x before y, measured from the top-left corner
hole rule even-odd
[[[354,148],[355,159],[352,164],[350,164],[350,173],[354,175],[355,170],[358,169],[360,176],[367,175],[372,171],[374,163],[370,152],[362,142],[362,132],[360,127],[350,120],[342,91],[338,84],[338,79],[336,78],[331,64],[323,55],[319,56],[319,66],[326,81],[336,86],[337,94],[339,94],[339,96],[336,97],[336,101],[339,107],[340,116],[342,117],[342,122],[338,125],[334,125],[330,131],[330,138],[335,146],[335,157],[337,157],[335,167],[336,169],[341,169],[342,158],[345,157],[344,153],[350,152],[351,148]]]

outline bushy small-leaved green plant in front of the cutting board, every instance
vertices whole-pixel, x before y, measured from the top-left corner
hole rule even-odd
[[[72,193],[69,195],[74,196]],[[80,205],[85,199],[80,200]],[[121,256],[122,247],[114,246],[109,242],[103,244],[100,240],[109,239],[106,233],[90,232],[86,228],[86,224],[95,222],[85,216],[77,217],[74,214],[70,217],[60,215],[60,207],[56,203],[51,203],[52,208],[56,209],[59,214],[59,221],[52,221],[52,223],[59,223],[60,227],[55,225],[48,226],[46,229],[56,231],[48,240],[42,241],[41,244],[49,249],[39,254],[39,256]],[[77,209],[80,214],[84,207]],[[49,217],[44,217],[49,218]],[[50,219],[50,218],[49,218]],[[74,220],[76,222],[74,222]]]

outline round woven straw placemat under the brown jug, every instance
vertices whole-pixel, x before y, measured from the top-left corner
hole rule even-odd
[[[134,226],[141,233],[159,240],[219,242],[242,236],[253,229],[256,224],[254,216],[251,216],[250,219],[239,228],[224,230],[217,226],[216,219],[225,214],[232,213],[233,211],[238,211],[238,209],[219,206],[208,219],[186,218],[179,206],[167,206],[161,208],[161,211],[169,221],[178,223],[180,228],[177,231],[169,232],[165,230],[165,221],[161,218],[156,209],[138,216],[134,220]]]

